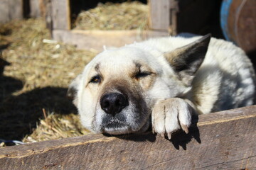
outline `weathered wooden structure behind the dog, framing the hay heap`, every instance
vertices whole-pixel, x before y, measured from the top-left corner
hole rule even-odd
[[[176,35],[181,32],[200,33],[198,30],[205,25],[215,5],[215,1],[205,3],[204,0],[149,0],[150,30],[113,31],[72,30],[70,2],[70,0],[2,0],[0,23],[29,16],[43,16],[46,17],[47,26],[54,40],[67,42],[78,48],[102,50],[103,45],[119,47],[152,37]]]

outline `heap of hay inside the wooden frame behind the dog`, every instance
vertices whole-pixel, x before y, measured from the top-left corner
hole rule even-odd
[[[139,1],[98,4],[83,11],[74,23],[76,30],[148,29],[149,6]]]

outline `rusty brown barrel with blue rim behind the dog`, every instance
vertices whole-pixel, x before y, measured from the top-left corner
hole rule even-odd
[[[245,52],[256,50],[256,0],[223,0],[220,26],[226,40]]]

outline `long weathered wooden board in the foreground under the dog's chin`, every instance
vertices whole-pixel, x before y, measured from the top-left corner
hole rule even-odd
[[[196,120],[196,119],[195,119]],[[256,169],[256,106],[199,115],[171,140],[85,135],[0,149],[1,169]]]

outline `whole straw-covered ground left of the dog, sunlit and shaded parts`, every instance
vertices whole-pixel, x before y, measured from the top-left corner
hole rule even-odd
[[[87,133],[65,93],[97,52],[49,39],[42,19],[0,25],[0,139],[35,142]]]

